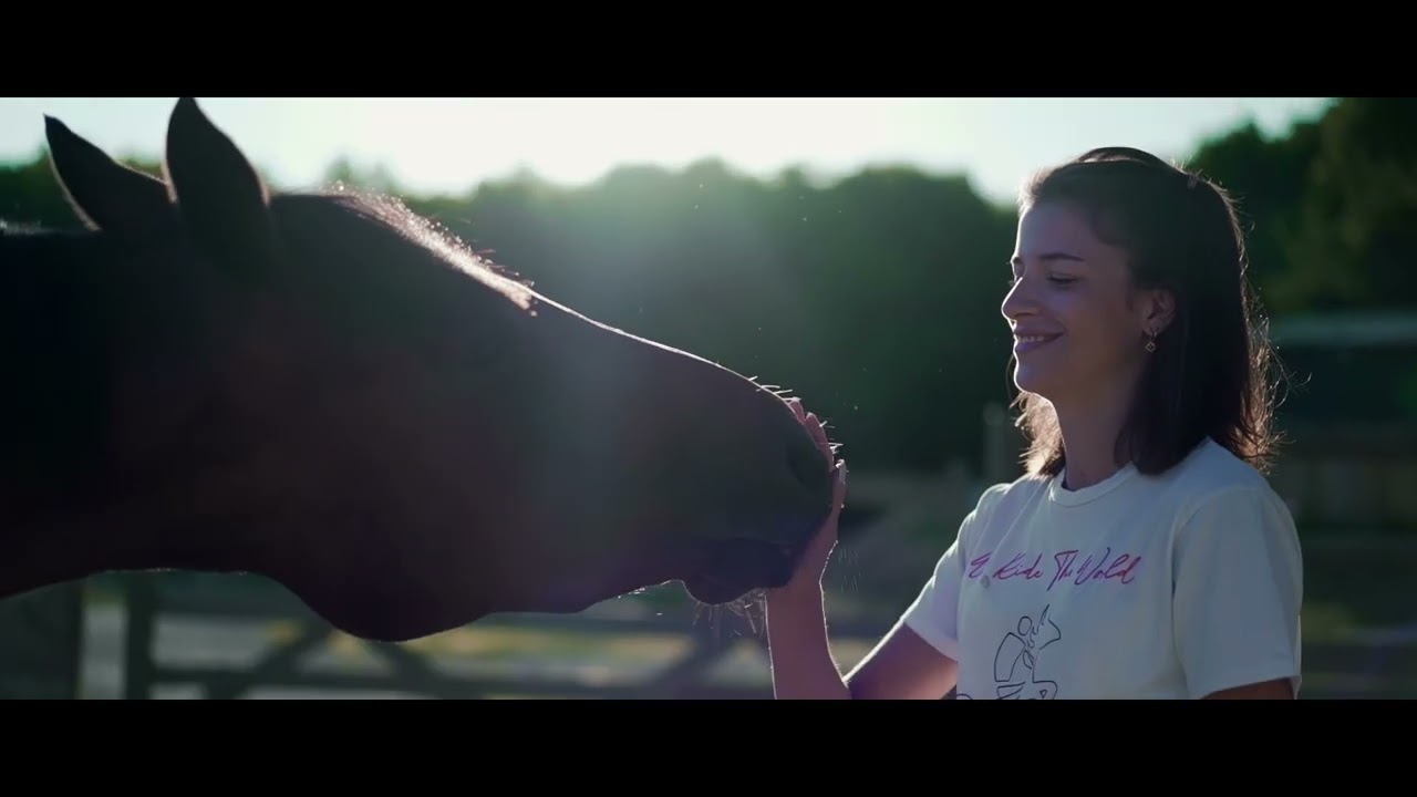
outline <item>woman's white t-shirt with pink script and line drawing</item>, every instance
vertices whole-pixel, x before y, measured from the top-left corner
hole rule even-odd
[[[1203,698],[1299,688],[1288,506],[1207,440],[1159,476],[989,488],[901,615],[959,662],[959,699]]]

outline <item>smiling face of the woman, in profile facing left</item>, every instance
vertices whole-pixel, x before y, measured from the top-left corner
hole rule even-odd
[[[1060,203],[1019,218],[1013,285],[1000,311],[1013,329],[1015,384],[1060,404],[1114,403],[1161,332],[1165,296],[1134,292],[1127,252]]]

